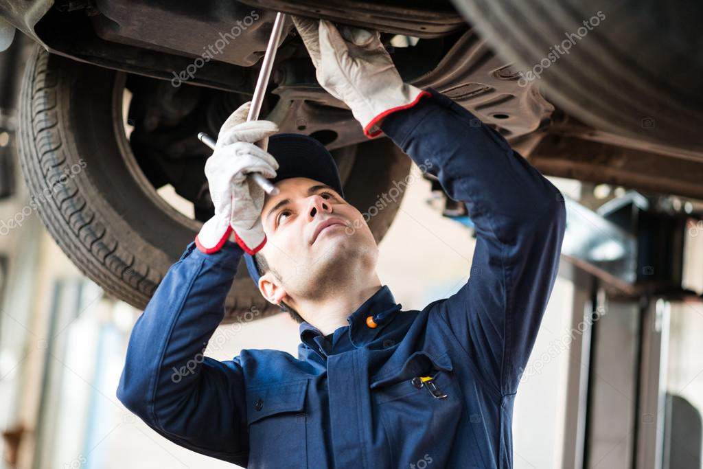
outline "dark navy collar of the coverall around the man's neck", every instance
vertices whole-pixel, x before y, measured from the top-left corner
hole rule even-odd
[[[383,285],[376,293],[371,295],[368,300],[363,302],[356,311],[347,316],[347,322],[349,322],[348,326],[341,326],[337,328],[333,334],[329,335],[330,340],[333,340],[331,344],[325,339],[321,330],[307,321],[300,323],[300,340],[321,355],[323,359],[325,359],[328,354],[342,351],[336,350],[335,345],[337,345],[338,341],[342,342],[342,340],[338,338],[344,331],[347,333],[348,342],[353,347],[361,348],[379,338],[384,326],[392,320],[393,316],[400,311],[401,308],[402,305],[396,303],[388,285]],[[377,324],[375,328],[368,326],[366,322],[368,316],[371,316],[373,322]]]

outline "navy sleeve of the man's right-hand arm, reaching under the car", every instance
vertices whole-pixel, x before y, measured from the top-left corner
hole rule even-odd
[[[387,116],[381,129],[446,193],[467,205],[476,247],[470,276],[432,314],[484,383],[517,389],[557,275],[561,193],[503,136],[439,91]]]

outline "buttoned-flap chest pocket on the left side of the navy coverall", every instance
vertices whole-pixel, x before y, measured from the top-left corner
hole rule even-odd
[[[247,468],[307,468],[308,380],[247,388]]]

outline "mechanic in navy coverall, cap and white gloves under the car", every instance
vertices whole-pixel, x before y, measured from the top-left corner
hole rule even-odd
[[[215,215],[136,321],[117,396],[172,442],[249,468],[511,468],[515,392],[557,274],[563,198],[494,129],[406,84],[378,32],[294,23],[321,86],[364,134],[389,136],[466,203],[470,278],[404,311],[375,273],[378,247],[330,153],[245,122],[245,103],[205,165]],[[302,321],[297,358],[202,355],[242,256],[266,300]]]

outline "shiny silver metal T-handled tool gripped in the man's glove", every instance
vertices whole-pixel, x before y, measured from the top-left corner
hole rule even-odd
[[[273,60],[276,58],[278,41],[280,41],[280,35],[283,34],[284,23],[285,13],[276,13],[276,20],[273,21],[273,29],[271,30],[271,37],[269,37],[269,44],[266,46],[266,52],[264,53],[264,62],[262,63],[262,68],[259,71],[257,86],[254,88],[254,96],[252,96],[252,104],[250,105],[249,114],[247,115],[247,122],[250,120],[257,120],[259,118],[259,113],[261,113],[264,94],[266,94],[266,86],[269,85],[271,70],[273,70]],[[202,143],[205,143],[205,145],[212,148],[212,150],[215,149],[216,142],[211,136],[205,134],[205,132],[200,132],[200,134],[198,134],[198,139],[200,139]],[[273,186],[271,181],[262,176],[262,174],[251,173],[250,177],[252,177],[254,182],[259,184],[259,186],[261,186],[267,194],[278,194],[278,188]]]

